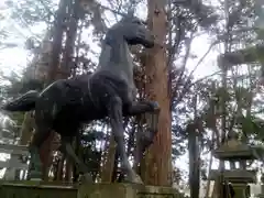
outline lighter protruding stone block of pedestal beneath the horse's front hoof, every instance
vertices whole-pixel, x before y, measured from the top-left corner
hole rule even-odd
[[[95,184],[79,187],[77,198],[176,198],[175,188],[132,184]]]

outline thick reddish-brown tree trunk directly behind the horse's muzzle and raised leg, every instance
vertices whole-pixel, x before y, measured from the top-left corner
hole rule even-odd
[[[168,70],[165,38],[167,20],[165,0],[147,0],[148,28],[156,36],[154,48],[147,51],[146,56],[146,96],[156,100],[161,106],[158,132],[146,153],[145,169],[142,176],[147,185],[172,186],[172,116],[168,97]]]

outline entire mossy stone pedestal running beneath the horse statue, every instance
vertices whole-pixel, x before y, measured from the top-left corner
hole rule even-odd
[[[132,184],[73,186],[55,182],[2,182],[0,198],[180,198],[175,188]]]

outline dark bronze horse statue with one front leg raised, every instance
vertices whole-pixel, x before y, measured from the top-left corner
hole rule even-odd
[[[35,111],[35,133],[29,146],[31,179],[41,178],[38,150],[52,130],[61,134],[63,151],[82,174],[89,176],[89,169],[74,153],[72,139],[77,135],[81,124],[109,118],[127,180],[142,184],[125,153],[122,121],[123,117],[146,112],[157,118],[160,107],[155,101],[135,101],[134,64],[130,45],[138,44],[151,48],[154,46],[154,36],[141,20],[125,16],[108,30],[94,74],[57,80],[41,92],[29,91],[2,107],[7,111]],[[147,145],[157,131],[155,123],[152,127],[145,138]]]

